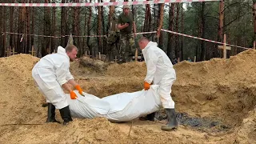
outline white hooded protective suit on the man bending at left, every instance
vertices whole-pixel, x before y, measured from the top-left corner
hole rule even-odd
[[[32,77],[46,97],[46,102],[52,103],[56,109],[68,106],[62,85],[74,77],[70,74],[70,58],[62,46],[58,46],[56,54],[40,59],[32,70]]]

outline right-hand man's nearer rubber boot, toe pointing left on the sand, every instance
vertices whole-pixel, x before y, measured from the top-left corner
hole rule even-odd
[[[161,126],[161,130],[174,130],[178,128],[175,109],[166,109],[168,123]]]

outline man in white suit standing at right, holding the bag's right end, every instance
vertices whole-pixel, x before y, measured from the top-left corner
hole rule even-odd
[[[166,53],[158,48],[157,42],[151,42],[148,38],[142,37],[138,41],[142,54],[146,62],[146,78],[144,79],[144,90],[150,89],[150,84],[159,85],[158,94],[163,108],[166,109],[168,122],[162,126],[162,130],[173,130],[178,128],[174,101],[170,96],[171,86],[176,80],[176,73],[170,58]],[[150,116],[152,118],[152,114]],[[153,114],[154,118],[154,114]]]

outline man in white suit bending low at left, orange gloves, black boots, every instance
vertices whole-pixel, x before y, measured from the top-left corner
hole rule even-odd
[[[77,95],[71,90],[68,83],[74,86],[79,94],[82,94],[81,87],[74,81],[69,70],[70,62],[74,61],[77,54],[78,48],[74,45],[68,44],[65,49],[58,46],[56,54],[48,54],[41,58],[32,70],[32,77],[48,103],[46,122],[58,122],[55,119],[55,109],[60,111],[64,120],[63,125],[72,121],[69,104],[62,87],[70,92],[71,99],[77,98]]]

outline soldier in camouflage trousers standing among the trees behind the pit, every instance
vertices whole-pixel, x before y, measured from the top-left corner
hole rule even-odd
[[[133,21],[133,14],[130,13],[130,6],[124,5],[122,9],[123,13],[118,16],[118,30],[120,30],[119,61],[130,62],[130,54],[135,53],[136,25]]]

